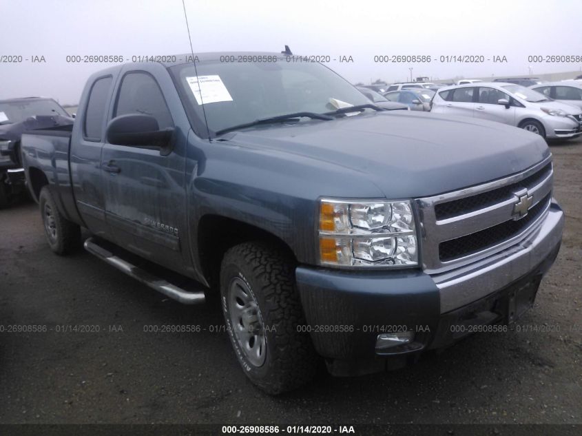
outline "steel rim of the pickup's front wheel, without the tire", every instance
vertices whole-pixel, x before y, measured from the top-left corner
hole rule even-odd
[[[238,277],[231,280],[228,293],[229,315],[236,340],[247,360],[253,366],[262,366],[267,347],[257,301],[249,285]]]

